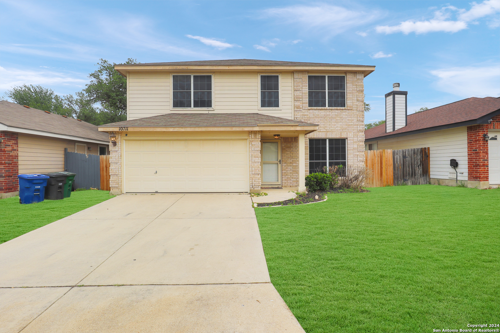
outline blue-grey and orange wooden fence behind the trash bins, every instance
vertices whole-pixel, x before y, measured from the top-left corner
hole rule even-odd
[[[85,155],[64,149],[64,170],[73,172],[73,188],[109,191],[109,155]]]

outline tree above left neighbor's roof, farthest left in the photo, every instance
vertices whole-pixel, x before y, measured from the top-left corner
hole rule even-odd
[[[57,95],[52,89],[43,88],[39,85],[14,86],[7,90],[4,95],[5,99],[10,99],[13,102],[29,107],[71,116],[71,113],[64,108],[64,100]]]

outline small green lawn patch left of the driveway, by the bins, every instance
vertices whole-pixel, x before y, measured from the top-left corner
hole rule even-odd
[[[1,199],[0,244],[110,198],[109,191],[87,190],[35,204],[21,205],[19,197]]]

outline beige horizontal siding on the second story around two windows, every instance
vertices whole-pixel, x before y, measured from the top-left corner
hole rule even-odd
[[[171,109],[170,73],[130,72],[128,74],[127,119],[151,117],[165,113],[207,112],[263,113],[292,119],[292,72],[280,73],[279,109],[259,108],[258,74],[257,72],[215,72],[212,74],[211,109]]]

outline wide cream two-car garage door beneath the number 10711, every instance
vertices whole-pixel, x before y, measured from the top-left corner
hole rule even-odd
[[[125,192],[248,192],[246,139],[124,140]]]

